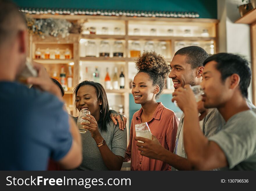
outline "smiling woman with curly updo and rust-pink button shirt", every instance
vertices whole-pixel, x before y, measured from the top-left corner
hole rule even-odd
[[[131,170],[171,170],[167,163],[140,155],[134,140],[135,125],[147,122],[162,147],[174,151],[178,118],[172,110],[156,101],[163,91],[170,68],[160,54],[145,51],[137,58],[136,69],[138,73],[134,77],[131,93],[135,103],[141,104],[141,109],[134,113],[131,121],[125,161],[131,160]]]

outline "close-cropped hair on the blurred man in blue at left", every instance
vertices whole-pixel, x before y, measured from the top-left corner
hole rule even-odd
[[[26,29],[26,19],[18,7],[10,1],[0,0],[0,47],[10,43],[19,31]]]

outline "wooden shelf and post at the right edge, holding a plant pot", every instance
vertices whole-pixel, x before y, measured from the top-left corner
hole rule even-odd
[[[256,104],[256,9],[246,13],[243,17],[237,19],[235,23],[250,25],[251,38],[251,57],[252,57],[252,88],[253,88],[253,104]]]

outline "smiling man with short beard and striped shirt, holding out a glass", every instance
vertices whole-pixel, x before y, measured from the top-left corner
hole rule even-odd
[[[175,91],[184,85],[199,85],[202,81],[202,73],[204,70],[203,62],[209,57],[208,53],[197,46],[184,47],[179,49],[170,63],[171,72],[169,78],[172,78]],[[247,100],[252,106],[253,104]],[[216,108],[209,110],[203,107],[203,102],[198,102],[200,130],[205,137],[215,135],[223,129],[225,120]],[[199,115],[199,114],[198,114]],[[154,136],[153,140],[145,140],[144,138],[135,138],[144,143],[137,143],[138,150],[143,151],[140,154],[149,158],[162,160],[172,166],[172,170],[193,170],[194,167],[189,160],[184,148],[184,113],[179,121],[177,130],[174,153],[164,149],[157,142]]]

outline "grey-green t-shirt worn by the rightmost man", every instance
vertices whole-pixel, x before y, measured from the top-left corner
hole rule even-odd
[[[229,169],[256,170],[255,125],[256,109],[246,110],[233,115],[223,131],[209,138],[225,153]]]

